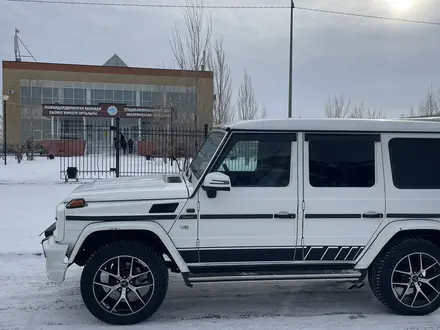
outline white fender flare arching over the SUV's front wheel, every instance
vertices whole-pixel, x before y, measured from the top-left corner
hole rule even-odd
[[[100,231],[122,231],[122,230],[139,230],[139,231],[149,231],[155,234],[161,242],[165,245],[165,248],[170,253],[171,257],[173,258],[174,262],[176,263],[177,267],[179,268],[180,272],[187,273],[189,272],[188,266],[186,262],[183,260],[182,256],[180,255],[179,251],[177,251],[176,246],[174,245],[171,238],[168,236],[166,231],[156,222],[149,221],[149,222],[138,222],[138,223],[129,223],[124,221],[112,221],[112,222],[95,222],[91,223],[88,226],[86,226],[81,234],[79,235],[78,239],[75,242],[75,245],[72,249],[72,252],[69,256],[69,264],[72,264],[75,260],[76,255],[79,252],[79,249],[81,248],[84,241],[89,237],[91,234],[100,232]]]

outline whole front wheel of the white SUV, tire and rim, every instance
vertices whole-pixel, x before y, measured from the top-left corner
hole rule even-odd
[[[132,241],[98,249],[81,275],[89,311],[109,324],[135,324],[153,315],[168,289],[165,261],[152,248]]]

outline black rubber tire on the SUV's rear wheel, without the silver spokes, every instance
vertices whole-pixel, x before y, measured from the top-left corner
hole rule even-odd
[[[413,306],[413,307],[411,307],[412,306],[411,304],[405,303],[404,299],[406,299],[406,297],[408,297],[410,300],[415,299],[413,298],[413,296],[409,296],[410,293],[411,294],[414,293],[415,296],[416,289],[414,286],[410,287],[409,289],[407,289],[407,287],[402,286],[403,292],[400,294],[402,295],[402,297],[404,297],[402,298],[403,300],[399,300],[399,298],[396,297],[394,293],[393,285],[391,283],[392,280],[394,279],[393,276],[396,276],[393,275],[395,267],[398,265],[403,265],[401,262],[405,262],[405,258],[407,258],[410,255],[412,256],[411,260],[414,261],[414,258],[417,258],[416,254],[418,253],[423,254],[423,258],[427,258],[427,256],[429,255],[430,257],[435,258],[437,261],[440,261],[440,247],[438,247],[437,245],[422,238],[405,238],[400,241],[396,241],[392,243],[391,246],[389,246],[387,250],[381,254],[379,259],[372,265],[370,269],[371,270],[370,286],[372,292],[380,302],[382,302],[388,309],[390,309],[391,311],[397,314],[427,315],[434,312],[440,307],[440,294],[435,293],[435,291],[433,290],[432,290],[433,295],[430,296],[431,299],[429,299],[431,301],[430,303],[428,303],[428,300],[426,300],[427,305],[423,306],[422,304],[420,304],[419,306]],[[416,268],[417,267],[413,265],[414,271],[418,271]],[[425,268],[425,265],[423,268]],[[437,273],[440,274],[438,270],[435,271],[436,274]],[[400,273],[397,273],[397,275],[400,275]],[[411,278],[409,275],[401,275],[401,276],[403,276],[402,278],[404,278],[405,280],[401,280],[398,282],[407,283],[406,278],[408,278],[408,281]],[[440,277],[435,279],[435,281],[437,280],[440,280]],[[438,285],[438,283],[440,282],[437,281],[435,283],[436,283],[435,285]],[[426,284],[422,283],[420,284],[420,287],[424,287],[424,285]],[[409,290],[409,291],[405,291],[405,290]],[[437,291],[440,290],[437,288]]]

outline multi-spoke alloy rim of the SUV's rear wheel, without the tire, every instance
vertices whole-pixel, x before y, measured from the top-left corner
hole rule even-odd
[[[427,253],[411,253],[394,267],[391,286],[402,304],[425,307],[440,295],[440,263]]]

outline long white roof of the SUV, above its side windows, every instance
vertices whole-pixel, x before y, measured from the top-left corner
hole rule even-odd
[[[282,118],[240,121],[222,128],[233,130],[440,132],[440,124],[404,119]]]

